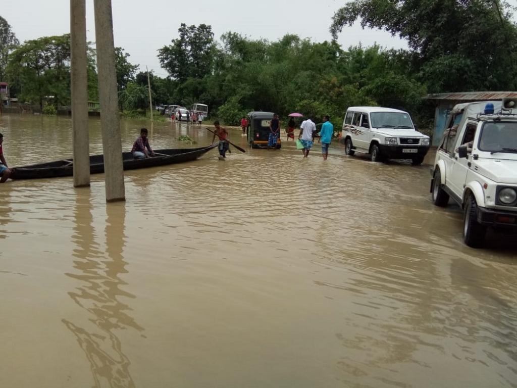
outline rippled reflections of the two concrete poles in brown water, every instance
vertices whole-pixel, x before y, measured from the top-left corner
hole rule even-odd
[[[76,258],[73,267],[77,271],[66,275],[78,280],[81,285],[68,294],[89,313],[90,318],[88,323],[74,323],[65,319],[63,323],[75,335],[84,351],[96,387],[106,384],[111,387],[133,387],[135,385],[129,372],[131,362],[116,335],[117,330],[128,328],[138,332],[144,330],[129,314],[131,308],[119,300],[120,297],[135,297],[121,289],[127,283],[120,275],[128,272],[123,256],[125,204],[106,207],[106,243],[103,251],[96,243],[90,190],[77,190],[76,198],[76,225],[72,238],[77,245],[73,252]]]

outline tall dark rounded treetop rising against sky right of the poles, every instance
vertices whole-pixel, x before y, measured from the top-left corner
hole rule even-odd
[[[212,27],[181,23],[178,33],[179,37],[173,39],[172,44],[158,50],[161,67],[180,82],[210,74],[216,55]]]

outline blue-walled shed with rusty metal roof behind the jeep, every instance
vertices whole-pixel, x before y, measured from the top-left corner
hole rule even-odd
[[[424,97],[435,105],[433,145],[437,146],[445,131],[447,115],[451,109],[464,102],[476,101],[500,101],[503,98],[517,98],[517,92],[458,92],[458,93],[437,93]]]

